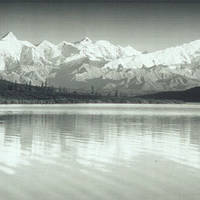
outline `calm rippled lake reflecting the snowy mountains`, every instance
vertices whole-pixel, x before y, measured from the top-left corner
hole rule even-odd
[[[199,200],[200,105],[0,105],[2,200]]]

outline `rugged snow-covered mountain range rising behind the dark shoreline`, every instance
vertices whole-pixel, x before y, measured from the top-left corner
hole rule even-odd
[[[84,38],[33,45],[8,33],[0,40],[0,77],[31,83],[129,94],[200,86],[200,40],[143,54],[104,40]]]

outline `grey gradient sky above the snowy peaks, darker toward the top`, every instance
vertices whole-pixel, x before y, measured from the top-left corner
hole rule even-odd
[[[200,39],[199,11],[180,3],[0,3],[0,35],[55,44],[87,36],[155,51]]]

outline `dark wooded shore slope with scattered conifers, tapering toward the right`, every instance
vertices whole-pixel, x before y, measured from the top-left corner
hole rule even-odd
[[[55,104],[55,103],[171,103],[176,101],[154,100],[145,98],[121,96],[115,90],[113,93],[98,93],[94,86],[87,92],[69,90],[67,88],[49,87],[47,82],[41,86],[12,83],[0,80],[1,104]]]

